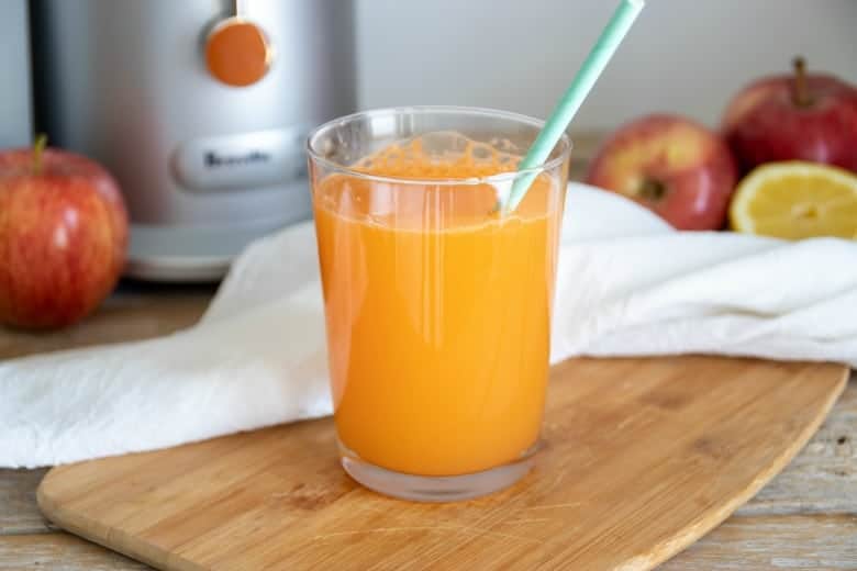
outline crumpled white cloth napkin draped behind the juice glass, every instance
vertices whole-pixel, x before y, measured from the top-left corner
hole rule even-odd
[[[857,367],[857,243],[675,232],[570,184],[552,360],[708,352]],[[149,450],[331,413],[311,223],[251,245],[168,337],[0,363],[0,466]]]

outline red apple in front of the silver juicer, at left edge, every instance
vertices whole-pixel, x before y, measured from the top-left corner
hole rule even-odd
[[[56,149],[0,153],[0,323],[62,327],[113,289],[127,244],[115,180]]]

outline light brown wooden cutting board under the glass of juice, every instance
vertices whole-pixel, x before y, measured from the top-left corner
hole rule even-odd
[[[714,357],[566,361],[534,471],[470,502],[360,488],[321,419],[55,468],[38,504],[166,570],[649,569],[782,469],[846,374]]]

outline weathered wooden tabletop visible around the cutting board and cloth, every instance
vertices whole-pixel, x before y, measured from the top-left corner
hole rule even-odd
[[[592,143],[585,139],[582,147],[589,150]],[[96,315],[69,329],[26,334],[0,328],[0,359],[171,333],[193,324],[213,292],[213,287],[123,283]],[[147,569],[45,522],[35,502],[45,472],[0,469],[0,570]],[[661,567],[780,568],[857,569],[857,376],[852,376],[827,422],[780,475]]]

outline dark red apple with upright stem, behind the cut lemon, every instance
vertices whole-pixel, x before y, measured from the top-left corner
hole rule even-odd
[[[857,88],[808,75],[795,58],[793,76],[761,79],[732,100],[723,133],[745,172],[794,159],[857,172]]]

